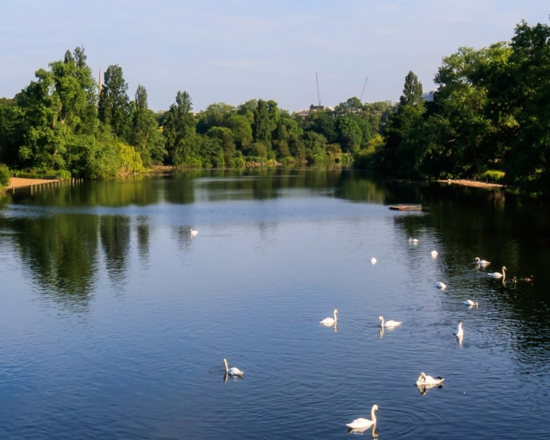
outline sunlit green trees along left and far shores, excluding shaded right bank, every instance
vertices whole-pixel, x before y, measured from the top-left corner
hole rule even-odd
[[[274,100],[237,107],[215,103],[193,113],[186,91],[166,112],[148,108],[138,85],[133,100],[122,67],[110,65],[99,87],[83,47],[39,69],[14,98],[0,98],[0,162],[14,170],[101,178],[164,164],[243,168],[247,164],[351,164],[352,154],[380,139],[391,102],[358,98],[302,116]]]

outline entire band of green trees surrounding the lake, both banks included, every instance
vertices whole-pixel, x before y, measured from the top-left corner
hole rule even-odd
[[[83,47],[0,98],[0,162],[76,177],[178,168],[329,163],[411,179],[498,179],[550,191],[550,27],[520,23],[510,42],[443,58],[434,100],[413,72],[399,102],[349,98],[334,109],[289,113],[274,100],[223,102],[193,113],[186,91],[166,112],[134,99],[122,68],[98,84]],[[498,178],[496,177],[498,176]]]

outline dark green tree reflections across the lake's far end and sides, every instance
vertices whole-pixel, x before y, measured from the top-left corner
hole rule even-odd
[[[516,349],[525,350],[524,354],[533,362],[550,362],[550,354],[533,355],[533,347],[550,347],[550,324],[545,316],[550,295],[544,289],[550,281],[550,272],[546,270],[550,261],[547,227],[550,208],[539,201],[500,190],[384,181],[341,168],[193,171],[168,177],[37,187],[33,192],[22,188],[1,199],[0,228],[6,232],[3,241],[13,243],[14,252],[24,261],[42,292],[67,305],[79,303],[87,307],[102,263],[113,286],[124,285],[132,236],[135,236],[142,266],[148,267],[151,225],[162,216],[168,219],[170,236],[179,256],[184,256],[188,263],[191,261],[189,223],[196,219],[208,223],[212,213],[185,212],[182,219],[181,210],[166,208],[164,203],[181,207],[199,206],[204,202],[211,203],[212,207],[217,201],[307,197],[304,191],[316,197],[353,202],[421,203],[421,212],[387,214],[395,227],[395,240],[405,245],[404,256],[425,253],[429,258],[430,251],[436,248],[438,255],[433,259],[432,274],[434,278],[441,276],[452,282],[446,289],[450,292],[441,292],[441,298],[462,289],[476,294],[476,298],[485,303],[492,301],[500,314],[512,322],[522,323],[514,329],[518,332]],[[25,208],[19,210],[21,207]],[[47,210],[43,209],[46,207]],[[79,207],[108,209],[99,213],[76,211]],[[156,211],[158,207],[162,211]],[[218,209],[223,212],[223,208]],[[260,237],[256,244],[273,250],[281,236],[280,222],[275,215],[287,216],[283,220],[293,219],[300,206],[292,209],[281,212],[269,204],[255,205],[253,221],[258,225]],[[236,221],[241,217],[235,217]],[[419,239],[419,243],[406,249],[409,237]],[[472,268],[474,255],[483,255],[496,267],[509,267],[510,277],[497,288],[494,281],[481,278],[486,277],[485,265]],[[412,274],[412,280],[421,283],[415,274],[424,272],[421,265],[426,265],[426,259],[400,261],[404,270]],[[537,283],[531,283],[533,279]],[[433,283],[436,281],[437,278]],[[496,302],[495,298],[498,298]],[[447,307],[446,304],[443,303],[443,307]],[[452,310],[449,306],[448,311]],[[334,330],[337,331],[337,327]],[[380,338],[382,336],[383,329],[380,330]]]

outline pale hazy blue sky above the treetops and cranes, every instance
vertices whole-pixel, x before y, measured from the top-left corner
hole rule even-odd
[[[273,99],[298,111],[351,96],[397,100],[409,70],[425,90],[461,46],[509,40],[522,19],[549,23],[548,0],[0,0],[0,96],[85,47],[94,75],[122,67],[149,107],[178,90],[195,111]]]

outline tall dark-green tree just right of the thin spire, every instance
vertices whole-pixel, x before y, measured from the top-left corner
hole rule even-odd
[[[98,113],[104,124],[111,126],[115,135],[126,139],[130,120],[128,84],[122,75],[122,67],[110,65],[104,74],[100,90]]]

